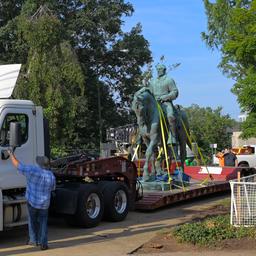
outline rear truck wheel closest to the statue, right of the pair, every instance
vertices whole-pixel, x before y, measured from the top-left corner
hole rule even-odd
[[[107,182],[103,188],[104,218],[110,221],[122,221],[129,211],[129,193],[122,182]]]

